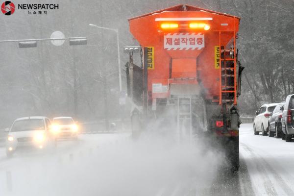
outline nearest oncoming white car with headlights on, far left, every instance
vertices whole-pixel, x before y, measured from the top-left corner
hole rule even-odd
[[[18,148],[47,147],[53,141],[49,131],[50,120],[47,117],[25,117],[14,121],[8,130],[6,139],[6,155],[8,157]]]

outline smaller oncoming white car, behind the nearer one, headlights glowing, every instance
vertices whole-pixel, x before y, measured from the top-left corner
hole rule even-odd
[[[52,121],[52,130],[57,138],[77,139],[78,125],[72,117],[55,117]]]

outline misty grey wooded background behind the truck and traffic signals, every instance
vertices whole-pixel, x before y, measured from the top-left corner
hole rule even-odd
[[[245,67],[241,114],[254,115],[265,102],[284,101],[294,88],[294,1],[290,0],[15,0],[13,3],[59,3],[47,15],[18,10],[0,15],[0,40],[86,36],[87,45],[54,46],[38,42],[21,49],[18,43],[0,43],[0,127],[23,116],[73,116],[78,121],[129,117],[119,105],[116,33],[89,26],[119,29],[123,90],[123,46],[138,43],[128,29],[128,18],[176,4],[190,4],[240,16],[239,60]],[[140,62],[137,62],[140,65]],[[75,76],[74,76],[75,75]],[[75,82],[74,82],[75,81]],[[106,87],[106,88],[105,88]],[[107,93],[107,107],[104,95]]]

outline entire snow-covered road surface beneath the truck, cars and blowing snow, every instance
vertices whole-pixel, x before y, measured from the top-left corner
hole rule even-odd
[[[0,148],[0,196],[294,196],[294,142],[240,129],[240,171],[221,152],[129,133],[81,135],[55,152],[7,159]]]

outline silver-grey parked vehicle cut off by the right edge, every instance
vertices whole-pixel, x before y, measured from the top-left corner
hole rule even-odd
[[[294,135],[294,94],[288,95],[285,105],[281,107],[282,115],[282,140],[290,142]]]

